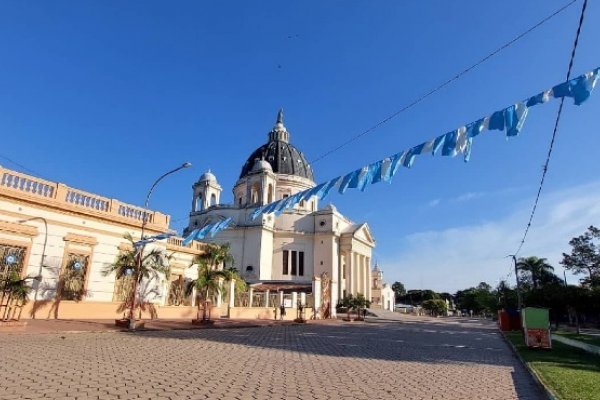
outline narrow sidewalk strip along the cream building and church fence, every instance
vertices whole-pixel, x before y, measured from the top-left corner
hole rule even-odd
[[[121,332],[127,329],[115,326],[114,320],[108,319],[89,319],[89,320],[66,320],[66,319],[31,319],[27,322],[25,328],[21,329],[3,329],[2,334],[37,334],[37,333],[74,333],[74,332]],[[225,329],[225,328],[258,328],[274,325],[292,325],[293,321],[274,321],[264,319],[214,319],[211,325],[193,325],[189,319],[155,319],[144,320],[145,326],[140,331],[157,330],[170,331],[181,329]],[[309,323],[322,323],[325,321],[310,321]]]

